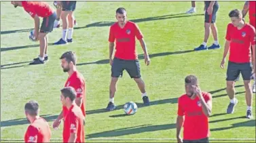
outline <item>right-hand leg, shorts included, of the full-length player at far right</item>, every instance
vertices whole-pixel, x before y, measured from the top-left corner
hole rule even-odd
[[[251,75],[253,73],[253,67],[251,63],[241,64],[241,74],[244,80],[245,99],[247,104],[246,117],[251,119],[252,117],[252,104],[253,104],[253,91],[251,89]]]

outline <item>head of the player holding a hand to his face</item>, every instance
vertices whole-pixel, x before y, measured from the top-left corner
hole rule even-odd
[[[194,95],[194,87],[198,85],[198,78],[196,75],[188,75],[185,77],[185,91],[187,96]]]

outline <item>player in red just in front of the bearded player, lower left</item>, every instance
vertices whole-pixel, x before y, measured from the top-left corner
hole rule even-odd
[[[77,94],[73,87],[65,87],[60,90],[62,106],[67,108],[67,116],[64,118],[63,142],[85,142],[84,114],[81,108],[75,104]]]

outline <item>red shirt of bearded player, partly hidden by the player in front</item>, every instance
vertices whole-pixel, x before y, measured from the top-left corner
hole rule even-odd
[[[86,117],[86,82],[84,80],[83,75],[81,73],[78,73],[78,71],[75,71],[69,79],[67,79],[65,83],[65,87],[73,87],[75,91],[77,92],[77,98],[82,98],[81,102],[81,111]],[[62,115],[65,117],[67,115],[68,109],[66,106],[62,106]]]

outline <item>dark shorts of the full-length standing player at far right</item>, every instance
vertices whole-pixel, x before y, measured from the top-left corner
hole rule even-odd
[[[251,75],[253,74],[252,67],[253,65],[251,64],[251,62],[240,64],[240,63],[229,61],[227,65],[226,81],[238,81],[240,73],[244,81],[251,80]]]

